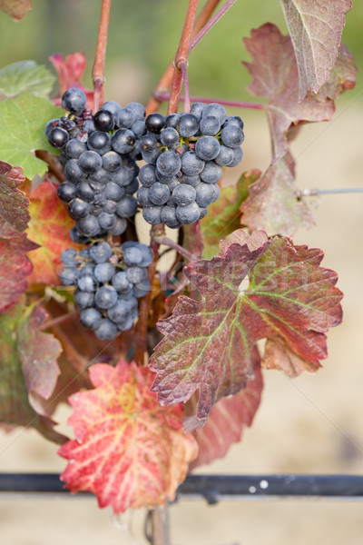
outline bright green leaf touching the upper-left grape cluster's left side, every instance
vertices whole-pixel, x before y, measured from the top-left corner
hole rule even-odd
[[[2,160],[18,164],[25,177],[43,175],[47,165],[37,157],[35,150],[54,154],[54,148],[44,134],[45,124],[63,115],[63,110],[34,94],[21,94],[14,99],[0,101],[0,148]]]

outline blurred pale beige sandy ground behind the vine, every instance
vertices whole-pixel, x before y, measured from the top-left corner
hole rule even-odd
[[[354,94],[351,95],[351,99]],[[262,114],[246,116],[243,170],[269,162]],[[300,187],[361,186],[363,106],[340,104],[335,121],[303,128],[293,153]],[[323,264],[339,274],[344,322],[329,333],[329,358],[316,375],[291,381],[265,372],[263,400],[251,430],[227,457],[199,472],[363,472],[363,194],[311,202],[316,227],[295,243],[324,249]],[[55,420],[65,421],[62,409]],[[66,431],[64,424],[61,431]],[[35,431],[0,432],[0,471],[62,471],[56,447]],[[171,508],[172,545],[361,545],[362,504],[328,500],[181,501]],[[140,544],[144,510],[113,518],[96,500],[0,498],[6,545]],[[126,530],[124,530],[125,525]]]

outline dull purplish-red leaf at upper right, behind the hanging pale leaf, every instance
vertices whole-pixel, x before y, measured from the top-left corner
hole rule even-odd
[[[251,63],[243,62],[253,78],[250,93],[269,99],[266,112],[276,160],[289,150],[286,134],[291,125],[332,118],[335,105],[331,96],[354,85],[351,60],[340,51],[325,90],[321,88],[319,96],[308,93],[299,101],[298,64],[289,35],[281,35],[277,26],[267,23],[252,30],[251,37],[244,38],[244,43],[252,57]]]

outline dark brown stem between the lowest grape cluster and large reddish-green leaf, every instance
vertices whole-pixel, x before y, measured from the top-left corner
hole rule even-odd
[[[152,263],[149,265],[149,269],[148,269],[148,279],[150,282],[150,290],[149,292],[146,293],[144,297],[142,297],[142,300],[140,302],[139,319],[136,325],[135,339],[134,339],[134,344],[135,344],[134,360],[138,365],[144,364],[145,352],[147,350],[147,333],[148,333],[150,306],[152,302],[152,286],[153,286],[153,280],[154,280],[155,272],[156,272],[156,263],[158,262],[158,258],[159,258],[159,247],[160,247],[160,244],[157,243],[155,239],[162,236],[164,233],[165,233],[165,226],[163,223],[160,223],[159,225],[152,225],[152,228],[150,230],[150,235],[151,235],[150,247],[153,253],[153,260],[152,260]]]

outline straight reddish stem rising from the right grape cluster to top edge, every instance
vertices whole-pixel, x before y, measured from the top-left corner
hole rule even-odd
[[[197,13],[198,3],[199,0],[189,0],[188,11],[182,28],[181,42],[174,60],[174,74],[172,75],[172,92],[169,99],[168,114],[174,114],[178,111],[179,98],[182,91],[182,64],[186,71],[191,46],[191,32]]]

